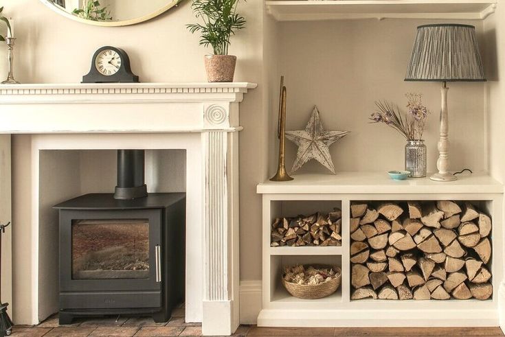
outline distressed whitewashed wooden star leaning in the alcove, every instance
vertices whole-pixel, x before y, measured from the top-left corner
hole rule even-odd
[[[298,145],[298,153],[291,173],[296,172],[307,161],[315,159],[335,174],[335,166],[330,155],[330,145],[348,135],[348,133],[349,131],[324,131],[319,119],[319,111],[317,111],[317,106],[314,106],[311,119],[308,120],[305,130],[286,132],[287,139]]]

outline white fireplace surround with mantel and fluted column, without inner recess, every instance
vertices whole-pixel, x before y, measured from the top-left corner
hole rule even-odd
[[[1,86],[0,133],[33,135],[32,220],[16,227],[16,235],[28,237],[32,261],[27,267],[13,264],[28,268],[32,298],[14,299],[14,312],[25,310],[16,323],[40,318],[38,152],[186,147],[188,203],[199,203],[188,207],[187,230],[201,233],[201,244],[195,235],[187,238],[186,317],[201,320],[205,335],[232,334],[238,327],[238,104],[254,88],[245,82]]]

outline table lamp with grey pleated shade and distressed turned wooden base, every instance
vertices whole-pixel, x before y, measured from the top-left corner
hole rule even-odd
[[[412,49],[405,81],[442,82],[440,140],[438,141],[438,173],[433,181],[455,181],[449,172],[449,114],[447,82],[483,82],[484,70],[480,58],[475,27],[442,23],[420,25]]]

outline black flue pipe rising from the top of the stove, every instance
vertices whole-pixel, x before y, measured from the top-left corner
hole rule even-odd
[[[117,186],[115,199],[135,199],[147,196],[144,150],[117,150]]]

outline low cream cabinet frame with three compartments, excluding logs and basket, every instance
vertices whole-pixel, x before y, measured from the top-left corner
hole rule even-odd
[[[280,327],[415,327],[497,326],[498,292],[503,279],[502,184],[486,174],[460,176],[438,183],[429,178],[392,181],[385,173],[344,172],[336,176],[306,174],[294,181],[265,182],[262,194],[262,310],[258,326]],[[493,220],[493,298],[488,301],[350,301],[350,202],[353,200],[468,200],[477,202]],[[310,211],[342,209],[341,247],[271,247],[273,218]],[[317,209],[321,207],[321,209]],[[296,210],[293,213],[293,210]],[[293,263],[337,262],[341,287],[331,297],[302,300],[282,288],[282,266]]]

